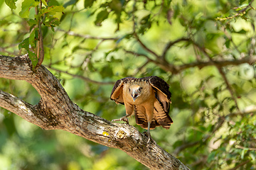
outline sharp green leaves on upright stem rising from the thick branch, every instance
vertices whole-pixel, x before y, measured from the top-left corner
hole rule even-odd
[[[15,5],[15,4],[14,4]],[[44,6],[43,6],[44,5]],[[55,18],[55,14],[63,11],[63,6],[59,6],[57,1],[50,1],[50,6],[46,3],[46,0],[24,0],[21,5],[21,11],[18,13],[21,18],[29,18],[28,26],[30,26],[31,33],[29,38],[24,39],[18,46],[19,49],[24,48],[32,61],[33,68],[38,64],[38,60],[41,57],[39,55],[39,48],[42,48],[39,43],[41,31],[41,25],[47,26],[54,31],[56,26],[60,25],[58,18]],[[10,6],[10,8],[16,8],[16,6]],[[31,8],[35,8],[36,13],[31,16]],[[37,33],[37,36],[35,36]],[[27,40],[28,39],[28,40]]]

